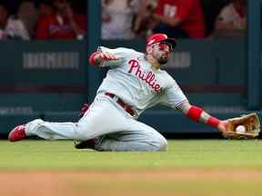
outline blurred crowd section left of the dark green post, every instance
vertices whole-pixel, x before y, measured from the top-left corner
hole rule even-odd
[[[0,0],[0,39],[82,39],[86,0]]]

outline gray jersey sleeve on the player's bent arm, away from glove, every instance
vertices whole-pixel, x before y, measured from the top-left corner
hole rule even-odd
[[[101,67],[116,67],[121,66],[126,62],[128,56],[130,55],[130,53],[132,53],[132,50],[128,48],[110,49],[104,46],[100,46],[98,47],[97,52],[108,52],[111,54],[115,54],[118,60],[104,61],[101,64]]]

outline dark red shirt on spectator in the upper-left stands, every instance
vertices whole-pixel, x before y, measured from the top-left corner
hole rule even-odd
[[[86,31],[83,17],[74,15],[76,24]],[[38,21],[36,28],[36,39],[75,39],[76,33],[69,24],[68,19],[59,15],[49,15]]]

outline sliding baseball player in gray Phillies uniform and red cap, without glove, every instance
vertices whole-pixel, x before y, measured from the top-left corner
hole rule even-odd
[[[137,121],[141,113],[157,103],[224,132],[227,121],[191,105],[176,81],[161,69],[175,47],[176,40],[166,34],[147,38],[146,54],[128,48],[99,47],[89,62],[110,69],[83,117],[78,122],[36,119],[16,126],[9,133],[9,141],[37,135],[45,140],[73,139],[78,141],[76,148],[96,151],[166,151],[166,139],[154,128]]]

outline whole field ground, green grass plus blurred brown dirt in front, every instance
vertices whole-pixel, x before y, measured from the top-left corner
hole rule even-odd
[[[75,150],[69,141],[0,141],[1,191],[12,196],[17,194],[8,184],[15,180],[27,196],[42,186],[42,195],[56,196],[260,196],[261,169],[260,140],[172,140],[167,152],[94,152]]]

